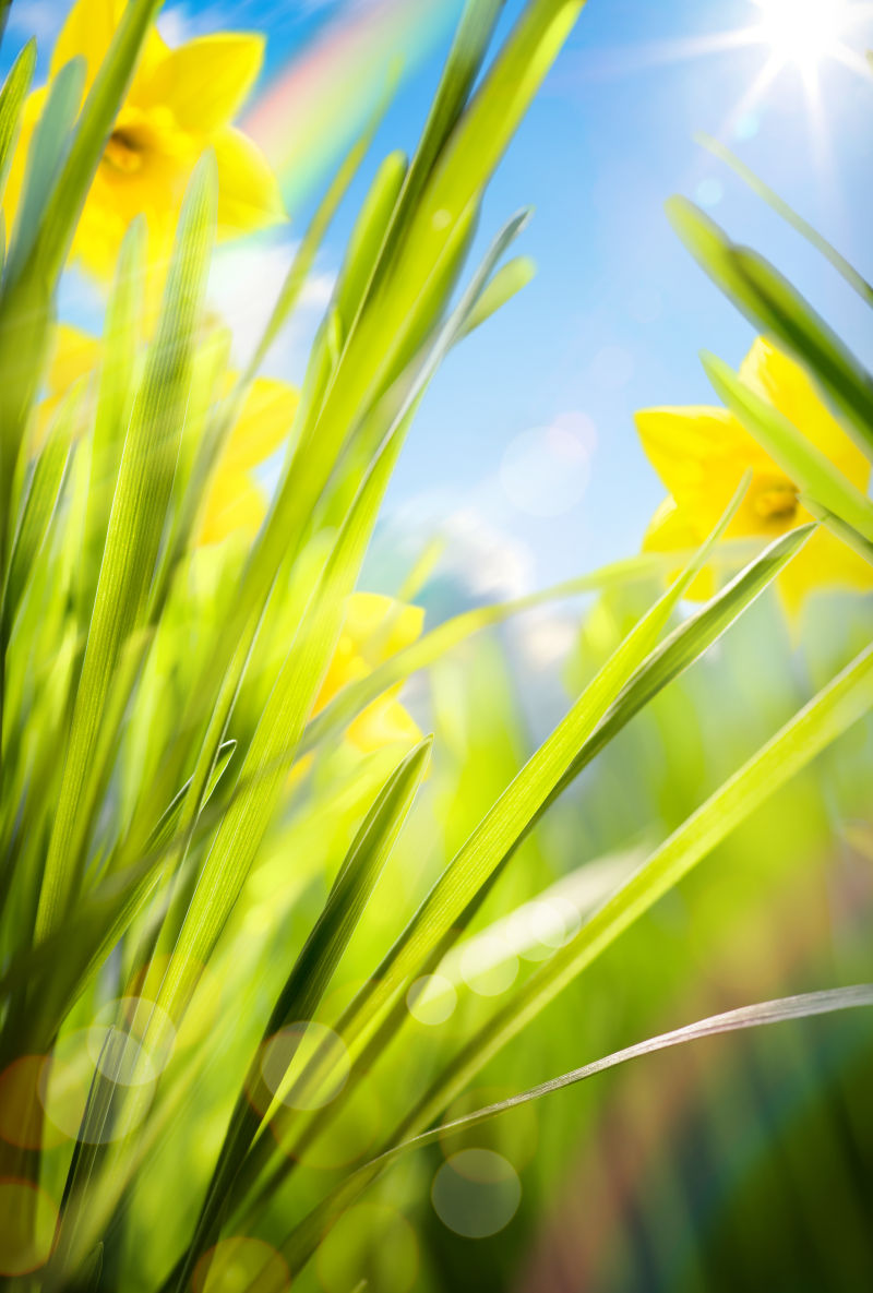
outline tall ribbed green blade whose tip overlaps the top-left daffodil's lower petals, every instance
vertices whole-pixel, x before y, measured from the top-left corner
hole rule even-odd
[[[66,751],[38,912],[45,937],[76,892],[105,769],[93,760],[115,670],[145,622],[188,398],[191,348],[216,209],[215,164],[198,166],[182,209],[164,306],[128,431]],[[118,715],[120,720],[120,714]]]

